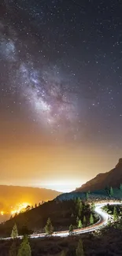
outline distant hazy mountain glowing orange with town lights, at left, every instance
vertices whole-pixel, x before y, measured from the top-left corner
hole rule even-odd
[[[28,202],[35,205],[42,201],[49,201],[61,195],[60,192],[39,187],[19,187],[0,185],[0,211],[10,211],[20,203]]]

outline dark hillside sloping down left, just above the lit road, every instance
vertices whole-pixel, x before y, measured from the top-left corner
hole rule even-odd
[[[54,231],[67,230],[72,223],[76,228],[76,217],[79,214],[76,208],[77,203],[75,200],[59,201],[54,199],[49,202],[43,203],[34,209],[27,210],[24,213],[19,213],[9,221],[0,224],[0,236],[10,236],[13,225],[16,223],[20,235],[24,234],[24,230],[31,232],[45,232],[44,227],[48,217],[52,221]],[[80,219],[83,222],[83,217],[86,217],[86,225],[89,225],[91,207],[89,204],[82,202],[82,212]],[[94,213],[93,213],[94,215]],[[94,216],[94,221],[97,221]],[[86,226],[85,225],[85,226]]]

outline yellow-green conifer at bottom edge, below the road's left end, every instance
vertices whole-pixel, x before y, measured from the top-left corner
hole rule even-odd
[[[17,256],[31,256],[31,247],[28,242],[28,236],[24,236],[23,242],[20,244]]]

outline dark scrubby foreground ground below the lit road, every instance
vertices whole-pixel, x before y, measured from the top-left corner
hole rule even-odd
[[[65,250],[66,256],[75,256],[79,239],[83,241],[83,251],[86,256],[116,256],[122,255],[122,231],[120,228],[108,227],[100,234],[84,234],[68,238],[31,239],[31,256],[58,256]],[[0,256],[8,256],[12,241],[0,241]],[[20,240],[16,241],[17,249]]]

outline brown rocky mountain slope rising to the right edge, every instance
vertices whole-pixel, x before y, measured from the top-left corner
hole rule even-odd
[[[105,187],[120,187],[122,184],[122,158],[116,167],[108,173],[99,173],[94,179],[76,188],[76,192],[98,191]]]

